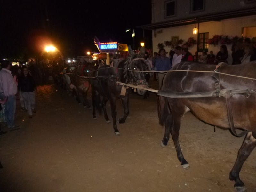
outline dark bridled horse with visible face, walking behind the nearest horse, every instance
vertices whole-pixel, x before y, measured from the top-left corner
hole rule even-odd
[[[125,60],[120,60],[116,64],[116,67],[105,65],[94,72],[92,72],[92,69],[88,69],[88,71],[90,71],[88,76],[95,77],[95,79],[90,80],[92,87],[93,118],[96,118],[95,106],[97,105],[97,98],[100,97],[102,98],[100,99],[100,103],[102,103],[104,117],[106,122],[110,123],[106,112],[106,103],[110,100],[115,135],[120,135],[116,125],[116,100],[121,99],[124,108],[123,118],[118,119],[118,122],[120,124],[125,123],[129,114],[129,94],[132,93],[131,87],[126,87],[118,82],[133,84],[140,87],[147,87],[148,85],[145,81],[145,74],[143,72],[148,70],[147,64],[143,59],[143,49],[140,51],[140,54],[135,54],[129,47],[129,54],[130,55]],[[145,90],[137,89],[139,95],[144,95],[145,92]]]

